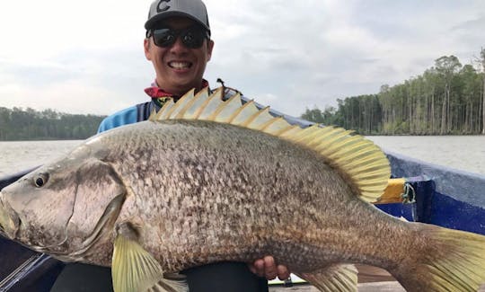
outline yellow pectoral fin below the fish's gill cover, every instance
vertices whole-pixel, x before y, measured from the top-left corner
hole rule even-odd
[[[115,239],[111,274],[115,292],[189,291],[184,277],[165,279],[160,263],[136,241],[121,234]]]

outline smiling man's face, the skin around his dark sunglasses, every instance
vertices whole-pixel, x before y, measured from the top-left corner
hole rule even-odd
[[[196,22],[184,17],[163,20],[163,24],[174,30],[186,29]],[[156,83],[168,93],[183,94],[192,88],[199,90],[207,62],[212,55],[214,41],[204,40],[198,49],[184,46],[178,37],[172,46],[161,48],[154,44],[153,37],[145,39],[145,57],[152,61]]]

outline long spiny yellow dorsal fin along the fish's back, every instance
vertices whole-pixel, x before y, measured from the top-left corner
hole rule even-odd
[[[218,88],[209,94],[205,88],[194,95],[192,90],[177,103],[166,102],[150,120],[198,119],[259,130],[322,155],[351,181],[360,199],[374,202],[384,192],[391,169],[383,151],[372,141],[343,128],[290,125],[282,117],[272,116],[268,107],[259,110],[252,101],[242,104],[239,93],[223,101],[223,92]]]

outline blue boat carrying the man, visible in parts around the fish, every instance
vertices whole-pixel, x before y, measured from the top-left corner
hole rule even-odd
[[[302,127],[313,124],[278,111],[270,112]],[[385,149],[384,152],[391,163],[392,178],[397,180],[398,191],[391,191],[388,199],[375,205],[377,208],[412,222],[485,234],[485,176],[429,164]],[[30,171],[0,178],[0,190]],[[1,236],[0,251],[0,292],[49,291],[65,265]],[[363,270],[368,272],[362,273],[359,281],[392,280],[389,274],[382,274],[382,270]],[[295,282],[303,281],[292,276],[287,281],[277,280],[270,284],[292,286]]]

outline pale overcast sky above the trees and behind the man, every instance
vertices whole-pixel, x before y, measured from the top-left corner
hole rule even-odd
[[[0,4],[0,107],[110,114],[148,97],[150,0]],[[206,0],[206,78],[299,116],[485,47],[485,1]]]

